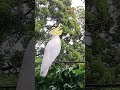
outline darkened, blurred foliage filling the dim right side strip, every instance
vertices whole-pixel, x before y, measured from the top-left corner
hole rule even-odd
[[[92,45],[86,45],[86,83],[120,82],[118,4],[119,1],[112,0],[86,0],[86,32],[93,41]]]

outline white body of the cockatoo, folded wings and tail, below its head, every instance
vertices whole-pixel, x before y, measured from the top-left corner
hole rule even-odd
[[[43,61],[41,65],[41,76],[46,76],[49,67],[52,65],[56,57],[59,55],[61,49],[60,40],[52,39],[46,45]]]

